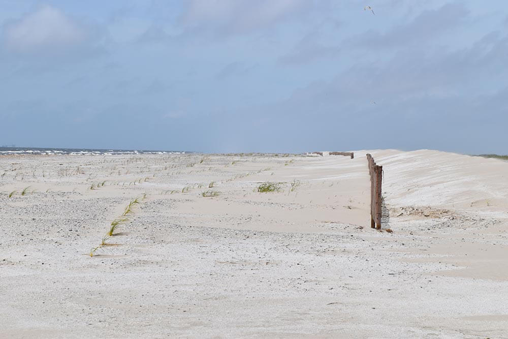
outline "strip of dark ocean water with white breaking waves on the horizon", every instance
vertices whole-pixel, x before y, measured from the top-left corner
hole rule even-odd
[[[124,154],[185,154],[188,151],[92,148],[0,147],[0,155],[124,155]]]

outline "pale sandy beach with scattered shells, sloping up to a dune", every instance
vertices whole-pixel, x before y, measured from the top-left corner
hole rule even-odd
[[[508,162],[354,152],[0,156],[0,336],[508,337]]]

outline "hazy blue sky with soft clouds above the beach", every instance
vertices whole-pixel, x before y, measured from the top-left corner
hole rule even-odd
[[[507,60],[505,0],[0,0],[0,145],[506,154]]]

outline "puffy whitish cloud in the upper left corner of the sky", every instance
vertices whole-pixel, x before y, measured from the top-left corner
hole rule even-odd
[[[86,32],[78,23],[51,6],[28,13],[4,29],[6,47],[14,52],[73,46],[85,39]]]

